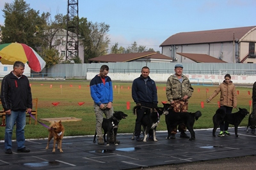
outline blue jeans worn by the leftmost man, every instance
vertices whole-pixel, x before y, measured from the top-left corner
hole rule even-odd
[[[11,115],[6,115],[6,127],[4,136],[4,148],[5,150],[12,148],[12,132],[13,125],[16,122],[16,141],[17,149],[24,148],[25,136],[24,127],[26,125],[26,111],[18,110],[11,111]]]

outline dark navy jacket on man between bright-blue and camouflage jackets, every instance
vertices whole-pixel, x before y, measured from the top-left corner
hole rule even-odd
[[[156,83],[148,76],[145,82],[143,76],[136,78],[132,83],[132,99],[135,103],[157,104]]]

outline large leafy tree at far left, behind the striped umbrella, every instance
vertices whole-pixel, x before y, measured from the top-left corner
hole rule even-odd
[[[5,3],[2,10],[4,15],[3,43],[25,43],[35,49],[42,41],[33,35],[37,27],[45,24],[44,18],[39,16],[39,11],[29,7],[24,0],[15,0],[13,3]]]

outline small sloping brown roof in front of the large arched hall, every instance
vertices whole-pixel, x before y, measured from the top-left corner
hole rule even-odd
[[[221,63],[227,63],[223,60],[216,59],[215,57],[212,57],[211,55],[202,54],[202,53],[177,53],[179,55],[182,55],[184,57],[187,57],[188,59],[191,59],[195,62],[221,62]]]

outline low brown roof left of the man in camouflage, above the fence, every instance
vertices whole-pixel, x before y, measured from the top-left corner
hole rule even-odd
[[[163,55],[161,53],[156,52],[143,52],[143,53],[111,53],[108,55],[102,55],[99,57],[94,57],[92,59],[89,59],[93,62],[129,62],[132,60],[137,59],[162,59],[162,60],[170,60],[172,59],[170,57],[167,57],[166,55]]]

